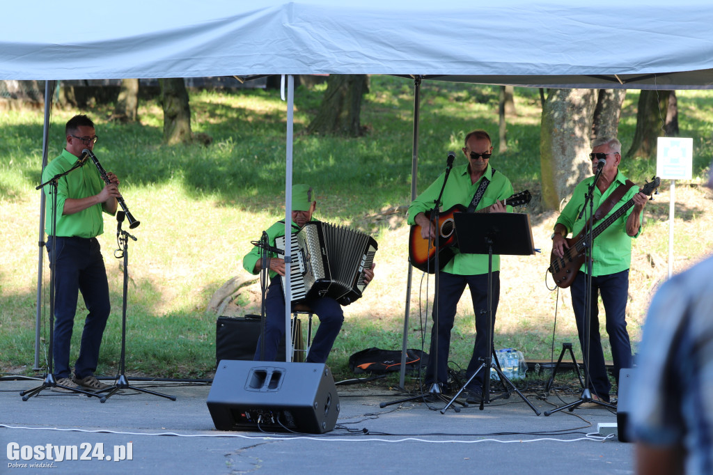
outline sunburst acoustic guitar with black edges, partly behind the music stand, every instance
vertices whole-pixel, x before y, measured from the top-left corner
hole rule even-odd
[[[506,198],[505,204],[511,206],[520,206],[530,203],[532,195],[528,190],[515,193],[510,198]],[[482,210],[477,210],[476,213],[490,213],[493,205],[490,205]],[[433,274],[436,272],[436,252],[438,252],[438,270],[446,267],[446,264],[453,258],[453,247],[457,246],[456,242],[456,225],[453,222],[455,213],[465,213],[466,207],[463,205],[453,205],[447,211],[441,213],[438,217],[436,229],[440,234],[438,236],[438,249],[436,250],[436,242],[432,239],[424,239],[421,237],[421,226],[411,226],[409,235],[409,262],[416,269],[422,272]],[[431,220],[432,211],[426,212],[426,218]]]

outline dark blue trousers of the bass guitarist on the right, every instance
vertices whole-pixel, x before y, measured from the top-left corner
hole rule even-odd
[[[587,275],[578,272],[570,290],[572,292],[572,305],[577,320],[580,344],[585,351],[585,297]],[[612,347],[614,362],[614,377],[619,382],[619,370],[632,367],[631,343],[626,330],[626,304],[629,296],[629,270],[615,274],[592,277],[592,301],[590,302],[589,325],[589,374],[590,391],[604,401],[609,401],[611,384],[607,376],[607,367],[604,362],[602,341],[599,334],[599,296],[604,303],[604,312],[607,321],[607,334]]]

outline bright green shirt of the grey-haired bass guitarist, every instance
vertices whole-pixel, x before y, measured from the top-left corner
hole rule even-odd
[[[582,215],[579,220],[577,216],[580,213],[584,205],[584,198],[587,194],[587,189],[591,185],[594,177],[586,178],[582,180],[579,185],[575,187],[572,193],[572,198],[569,203],[565,205],[565,209],[562,210],[560,218],[558,218],[557,223],[563,225],[567,228],[568,232],[571,232],[573,236],[578,235],[583,229],[586,223],[586,218],[589,215],[589,205],[587,205],[586,212]],[[597,212],[600,203],[606,200],[609,195],[614,193],[614,190],[618,188],[620,184],[626,182],[626,177],[622,175],[620,171],[617,171],[617,176],[609,185],[609,188],[602,193],[599,188],[594,189],[594,212]],[[632,186],[627,193],[619,200],[619,203],[615,204],[612,210],[607,213],[605,218],[615,213],[616,210],[625,205],[636,193],[639,193],[639,187]],[[634,208],[627,210],[623,216],[620,216],[614,221],[608,228],[602,231],[600,235],[595,237],[593,242],[593,265],[592,265],[592,275],[597,277],[599,275],[609,275],[615,274],[617,272],[622,272],[622,270],[627,270],[631,267],[631,240],[632,237],[626,233],[626,221],[629,215],[632,213]],[[597,228],[597,223],[601,223],[602,220],[596,221],[594,223],[595,229]],[[641,228],[636,233],[634,237],[638,237],[641,234]],[[581,271],[585,271],[585,266],[582,265]]]

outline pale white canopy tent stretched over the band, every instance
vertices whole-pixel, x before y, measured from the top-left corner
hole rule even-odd
[[[392,74],[416,83],[560,88],[713,88],[709,0],[354,3],[126,0],[58,6],[39,0],[36,11],[51,14],[17,16],[0,31],[0,79],[283,74],[290,114],[295,74]],[[412,194],[417,127],[416,122]],[[287,136],[289,210],[291,121]],[[45,143],[43,164],[46,150]],[[289,223],[289,211],[286,218]],[[289,325],[289,312],[285,318]]]

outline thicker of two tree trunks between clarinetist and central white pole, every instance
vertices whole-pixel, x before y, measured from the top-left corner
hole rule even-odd
[[[193,140],[193,134],[190,131],[188,91],[183,78],[159,79],[158,83],[163,106],[164,143],[189,143]]]

